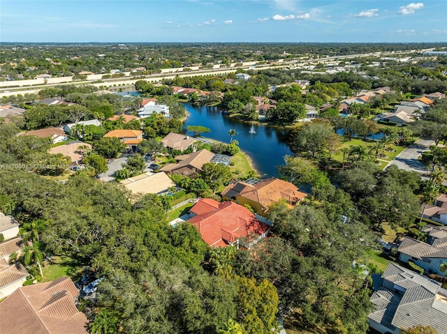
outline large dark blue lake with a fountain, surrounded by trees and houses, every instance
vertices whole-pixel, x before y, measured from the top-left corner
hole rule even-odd
[[[191,103],[184,103],[184,106],[189,113],[184,126],[210,128],[211,132],[204,133],[203,137],[229,143],[228,130],[235,129],[238,135],[233,139],[239,142],[240,149],[249,155],[263,177],[277,176],[278,166],[284,164],[284,155],[293,155],[286,143],[288,130],[255,124],[256,133],[249,133],[250,123],[233,119],[216,107]]]

